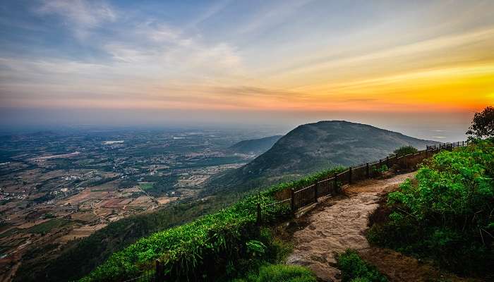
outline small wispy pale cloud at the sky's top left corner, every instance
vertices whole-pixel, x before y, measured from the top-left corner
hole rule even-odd
[[[116,20],[114,8],[103,1],[44,0],[35,11],[40,15],[64,18],[74,35],[80,39],[87,37],[93,28]]]

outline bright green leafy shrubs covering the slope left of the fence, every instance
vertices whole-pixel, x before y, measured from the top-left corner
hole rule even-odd
[[[227,209],[191,223],[142,238],[114,253],[81,281],[118,281],[164,264],[167,281],[213,281],[263,259],[271,250],[269,236],[255,225],[255,204],[265,195],[244,198]]]

